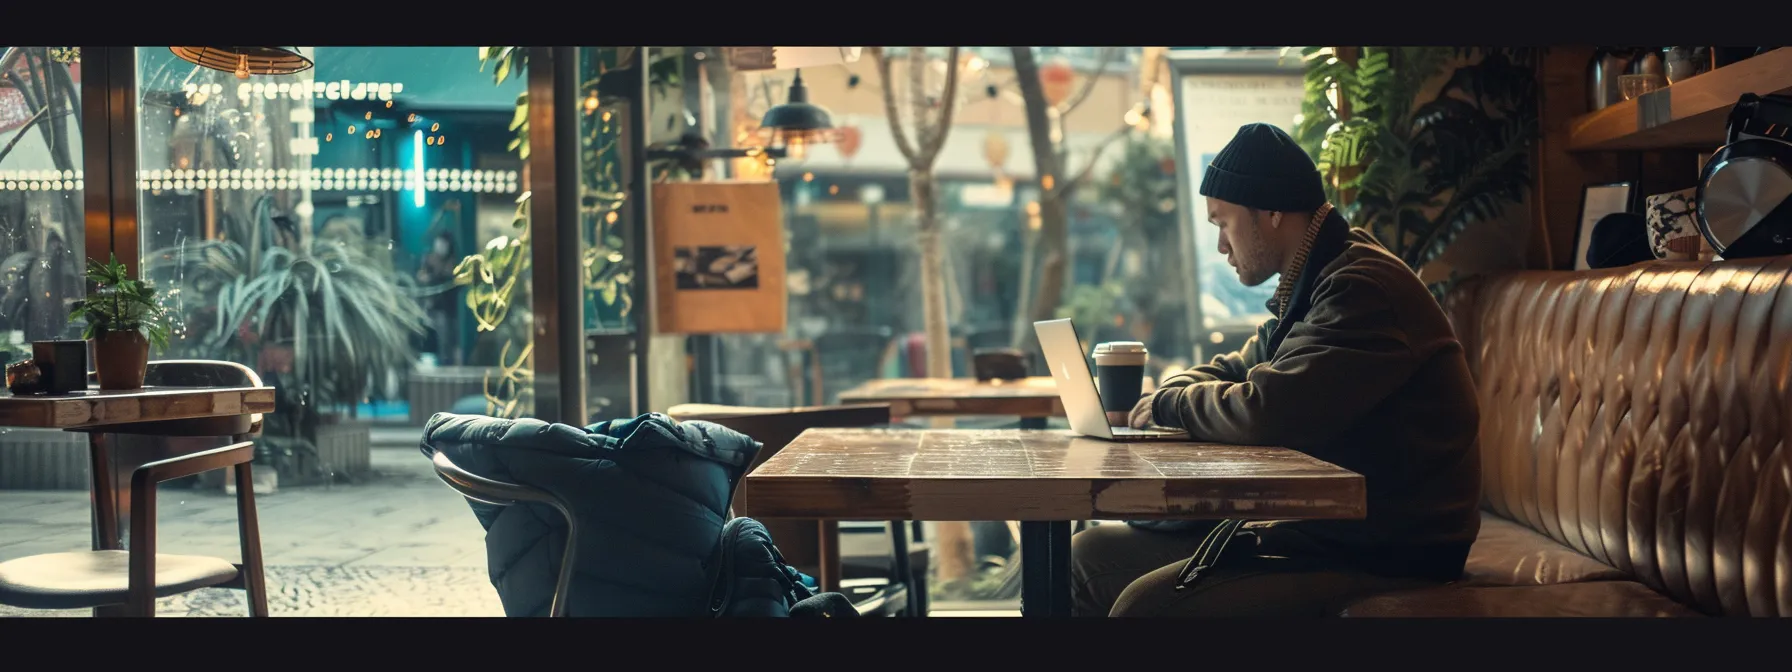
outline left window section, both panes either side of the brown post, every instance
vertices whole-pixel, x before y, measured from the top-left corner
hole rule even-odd
[[[176,319],[152,357],[240,362],[280,391],[254,464],[272,615],[502,615],[478,521],[418,437],[439,410],[536,414],[513,127],[527,68],[496,81],[473,47],[299,52],[315,66],[237,79],[134,50],[136,247]],[[79,337],[65,326],[82,292],[79,61],[5,54],[0,328]],[[457,267],[486,272],[457,283]],[[88,545],[86,462],[79,434],[0,435],[0,507],[34,511],[0,520],[0,561]],[[238,557],[222,475],[161,489],[158,550]],[[244,593],[158,611],[235,616]]]

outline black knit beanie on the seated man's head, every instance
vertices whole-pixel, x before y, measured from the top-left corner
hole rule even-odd
[[[1326,204],[1319,167],[1281,129],[1245,124],[1201,177],[1201,195],[1271,211],[1314,211]]]

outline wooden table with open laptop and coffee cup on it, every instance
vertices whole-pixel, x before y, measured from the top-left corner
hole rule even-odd
[[[1364,518],[1364,478],[1287,448],[1057,430],[803,432],[742,480],[754,518],[1018,520],[1021,613],[1070,615],[1072,520]]]

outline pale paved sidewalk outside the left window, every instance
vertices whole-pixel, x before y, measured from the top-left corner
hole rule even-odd
[[[290,487],[256,498],[269,611],[303,616],[502,616],[486,575],[486,532],[416,448],[375,448],[378,475],[355,486]],[[161,552],[242,557],[235,498],[168,489]],[[90,547],[84,491],[0,491],[0,561]],[[167,616],[246,615],[244,593],[201,590],[158,600]],[[86,616],[23,611],[0,616]]]

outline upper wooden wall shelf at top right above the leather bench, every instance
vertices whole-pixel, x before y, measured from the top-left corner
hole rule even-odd
[[[1724,143],[1729,109],[1744,93],[1792,93],[1792,48],[1776,48],[1575,116],[1568,151],[1715,151]]]

